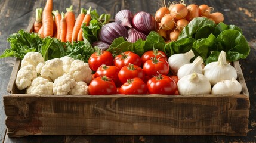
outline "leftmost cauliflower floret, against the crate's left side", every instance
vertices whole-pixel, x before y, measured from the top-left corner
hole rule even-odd
[[[38,76],[36,68],[32,64],[21,67],[18,70],[15,84],[19,90],[23,90],[31,85],[32,80]]]

